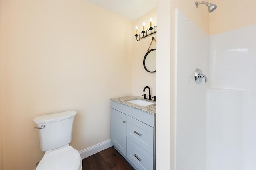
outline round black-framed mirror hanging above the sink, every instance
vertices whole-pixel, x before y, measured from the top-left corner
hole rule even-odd
[[[145,54],[143,66],[147,72],[156,72],[156,49],[151,49]]]

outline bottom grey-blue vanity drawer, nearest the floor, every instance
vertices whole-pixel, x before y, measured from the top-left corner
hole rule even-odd
[[[138,170],[153,170],[154,156],[127,137],[127,158]]]

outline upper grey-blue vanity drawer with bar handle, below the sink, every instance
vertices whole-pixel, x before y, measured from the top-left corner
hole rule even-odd
[[[154,155],[154,128],[127,116],[127,137]]]

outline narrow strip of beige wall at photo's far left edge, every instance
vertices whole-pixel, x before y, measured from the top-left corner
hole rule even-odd
[[[0,0],[0,170],[3,170],[2,144],[2,0]]]

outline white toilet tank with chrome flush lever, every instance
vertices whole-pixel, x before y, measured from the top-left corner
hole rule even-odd
[[[65,111],[34,118],[38,127],[45,125],[43,129],[38,129],[40,149],[48,151],[69,144],[72,141],[75,116],[76,111]]]

